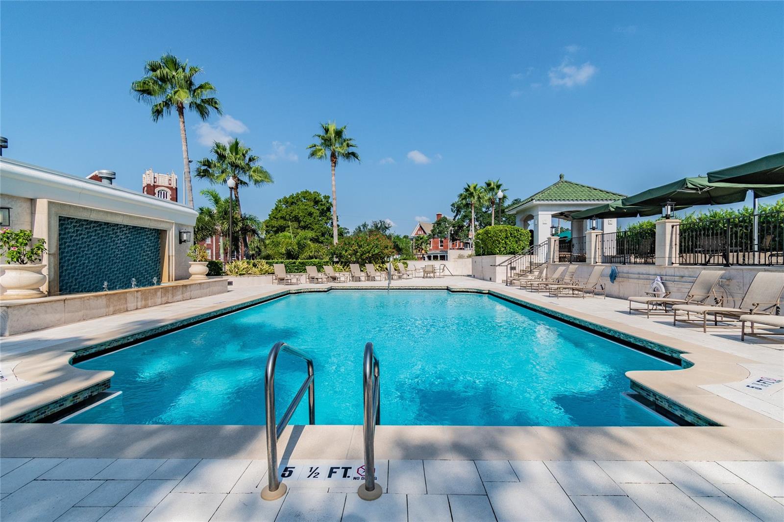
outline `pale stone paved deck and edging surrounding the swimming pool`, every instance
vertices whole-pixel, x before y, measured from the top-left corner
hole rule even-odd
[[[252,494],[266,473],[264,462],[253,460],[266,455],[261,426],[2,424],[2,517],[54,520],[77,506],[62,520],[784,518],[784,386],[746,386],[760,377],[784,379],[784,343],[776,338],[741,343],[739,327],[709,328],[705,334],[701,325],[673,326],[671,317],[630,315],[625,300],[556,299],[470,277],[392,285],[492,292],[583,326],[688,353],[690,368],[628,375],[671,405],[721,426],[379,426],[377,465],[389,480],[381,500],[360,501],[352,492],[356,484],[295,480],[283,501],[261,502]],[[5,338],[0,364],[4,373],[13,368],[21,381],[12,393],[0,395],[2,418],[107,378],[96,374],[111,374],[72,368],[67,361],[74,351],[278,292],[327,286],[235,288]],[[361,431],[361,426],[289,426],[279,442],[281,459],[310,467],[318,461],[357,462]],[[119,471],[108,473],[113,466]],[[144,495],[151,498],[146,504],[133,504]],[[47,500],[31,509],[40,498]]]

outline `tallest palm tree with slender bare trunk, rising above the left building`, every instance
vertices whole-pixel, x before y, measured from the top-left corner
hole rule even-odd
[[[209,82],[194,82],[194,76],[201,67],[181,62],[172,54],[161,56],[161,60],[151,60],[144,64],[144,78],[132,82],[131,91],[140,101],[151,105],[152,121],[169,116],[172,110],[180,117],[180,139],[183,141],[183,177],[188,204],[194,206],[191,187],[191,166],[188,161],[188,140],[185,135],[185,110],[194,111],[202,121],[214,111],[223,114],[220,101],[214,96],[215,87]]]

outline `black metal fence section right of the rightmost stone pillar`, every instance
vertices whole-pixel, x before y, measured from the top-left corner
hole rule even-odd
[[[784,265],[784,212],[684,220],[673,234],[681,265]]]

